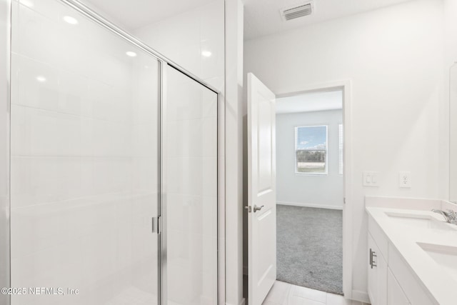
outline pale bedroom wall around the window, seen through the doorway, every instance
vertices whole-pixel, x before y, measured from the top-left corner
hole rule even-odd
[[[276,201],[278,204],[343,209],[343,176],[338,174],[341,110],[276,114]],[[327,174],[295,174],[295,127],[327,125]]]

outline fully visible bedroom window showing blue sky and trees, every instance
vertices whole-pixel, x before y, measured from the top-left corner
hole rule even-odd
[[[327,126],[295,127],[296,174],[327,174]]]

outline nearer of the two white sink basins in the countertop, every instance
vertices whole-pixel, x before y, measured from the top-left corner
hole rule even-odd
[[[457,247],[417,243],[436,264],[457,280]]]

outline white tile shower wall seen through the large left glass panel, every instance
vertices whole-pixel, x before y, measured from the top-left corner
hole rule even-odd
[[[11,286],[80,294],[11,304],[156,304],[157,61],[59,1],[13,16]]]

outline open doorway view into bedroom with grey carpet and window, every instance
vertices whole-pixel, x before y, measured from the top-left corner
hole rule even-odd
[[[343,294],[343,88],[276,99],[278,281]]]

